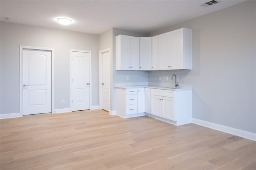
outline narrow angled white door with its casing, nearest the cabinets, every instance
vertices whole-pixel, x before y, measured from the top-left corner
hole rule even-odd
[[[100,51],[100,109],[110,107],[110,49]]]

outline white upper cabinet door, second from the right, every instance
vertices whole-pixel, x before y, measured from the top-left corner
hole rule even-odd
[[[170,70],[170,32],[159,35],[159,70]]]

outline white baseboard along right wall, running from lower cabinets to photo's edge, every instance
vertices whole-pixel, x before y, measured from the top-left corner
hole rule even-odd
[[[192,123],[197,124],[197,125],[201,125],[201,126],[204,126],[204,127],[209,127],[211,129],[215,129],[217,131],[230,133],[232,135],[236,135],[236,136],[240,136],[240,137],[243,137],[243,138],[246,138],[246,139],[256,141],[256,133],[243,131],[243,130],[240,130],[240,129],[235,129],[233,127],[219,125],[219,124],[216,124],[216,123],[203,121],[203,120],[195,119],[195,118],[192,118]]]

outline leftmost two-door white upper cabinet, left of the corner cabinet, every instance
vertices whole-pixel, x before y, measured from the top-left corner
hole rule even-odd
[[[116,36],[116,70],[139,70],[139,37]]]

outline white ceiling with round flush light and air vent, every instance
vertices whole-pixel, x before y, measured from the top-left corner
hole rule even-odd
[[[208,0],[142,1],[12,1],[1,0],[1,21],[100,34],[112,27],[150,33],[158,29],[208,14],[243,0],[222,0],[201,7]],[[57,18],[70,18],[71,25],[60,25]]]

